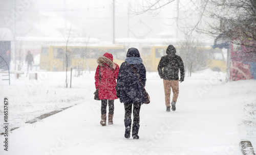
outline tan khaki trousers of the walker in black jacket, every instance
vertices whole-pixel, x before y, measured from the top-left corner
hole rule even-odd
[[[165,106],[170,107],[170,89],[173,89],[173,101],[176,103],[179,96],[179,80],[163,80],[163,88],[165,95]]]

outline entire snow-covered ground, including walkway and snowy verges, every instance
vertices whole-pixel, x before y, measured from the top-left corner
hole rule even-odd
[[[209,69],[192,73],[180,84],[177,110],[167,113],[163,82],[157,72],[147,72],[145,88],[151,103],[141,107],[140,139],[133,140],[124,138],[119,99],[114,124],[99,124],[94,73],[73,76],[72,88],[65,88],[66,72],[37,71],[37,81],[26,74],[15,79],[12,74],[10,86],[1,80],[0,133],[4,97],[9,98],[9,129],[19,128],[9,132],[8,151],[0,135],[0,154],[242,154],[242,139],[256,148],[255,80],[225,83],[223,73]],[[25,123],[70,106],[36,123]]]

